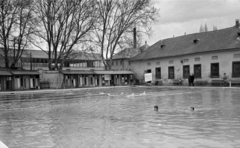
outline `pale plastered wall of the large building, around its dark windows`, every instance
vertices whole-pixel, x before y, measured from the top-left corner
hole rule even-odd
[[[131,67],[136,74],[136,78],[141,80],[143,79],[144,71],[151,69],[153,74],[153,80],[155,80],[155,68],[161,67],[161,77],[164,82],[171,82],[168,80],[168,67],[174,66],[175,79],[183,78],[183,65],[190,65],[190,73],[193,73],[194,65],[201,64],[201,75],[203,80],[210,80],[210,68],[211,63],[219,63],[219,74],[220,77],[223,77],[223,73],[226,73],[227,76],[231,78],[232,75],[232,62],[240,61],[240,58],[234,58],[234,54],[240,54],[239,50],[231,51],[217,51],[211,53],[201,53],[201,54],[192,54],[186,56],[178,56],[172,58],[163,58],[163,59],[154,59],[146,61],[131,61]],[[217,60],[213,60],[212,56],[218,56]],[[200,57],[200,61],[195,61],[195,58]],[[188,62],[181,63],[181,60],[188,59]],[[173,63],[169,63],[170,60],[173,60]],[[157,62],[160,62],[157,65]],[[151,63],[151,65],[148,65]],[[185,80],[187,81],[187,80]]]

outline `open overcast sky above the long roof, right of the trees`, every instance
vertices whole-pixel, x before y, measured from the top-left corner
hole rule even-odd
[[[218,29],[232,27],[240,19],[240,0],[153,0],[159,10],[159,21],[153,35],[145,37],[149,45],[159,40],[199,32],[207,24]]]

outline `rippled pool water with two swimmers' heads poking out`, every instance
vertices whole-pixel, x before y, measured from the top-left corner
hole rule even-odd
[[[0,141],[9,148],[235,148],[239,90],[115,87],[0,94]]]

